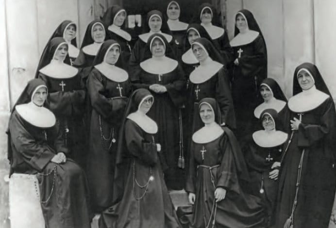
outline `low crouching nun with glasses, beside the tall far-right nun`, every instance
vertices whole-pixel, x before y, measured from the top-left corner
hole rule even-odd
[[[262,130],[253,132],[245,150],[245,161],[252,179],[253,195],[259,195],[265,209],[267,227],[274,223],[275,202],[278,191],[278,176],[283,145],[287,133],[274,109],[265,109],[259,118]]]

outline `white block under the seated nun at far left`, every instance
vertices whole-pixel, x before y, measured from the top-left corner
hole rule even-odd
[[[12,174],[9,179],[11,228],[45,228],[35,175]]]

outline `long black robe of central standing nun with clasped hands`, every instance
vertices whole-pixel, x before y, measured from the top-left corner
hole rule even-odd
[[[184,185],[183,170],[178,168],[180,155],[179,107],[184,103],[185,75],[178,65],[171,72],[157,75],[146,72],[141,68],[139,79],[132,81],[134,88],[149,90],[152,84],[164,85],[166,93],[152,92],[154,103],[148,116],[159,126],[157,141],[162,146],[168,169],[165,171],[165,180],[168,188],[182,189]],[[167,167],[166,167],[167,168]]]

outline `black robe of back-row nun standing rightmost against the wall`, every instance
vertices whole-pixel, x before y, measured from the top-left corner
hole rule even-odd
[[[267,52],[264,40],[260,34],[248,44],[235,46],[234,59],[238,58],[238,50],[242,49],[239,65],[232,68],[232,98],[234,100],[237,120],[237,137],[249,134],[249,119],[253,110],[261,103],[259,87],[261,81],[267,78]],[[256,78],[256,80],[255,80]]]

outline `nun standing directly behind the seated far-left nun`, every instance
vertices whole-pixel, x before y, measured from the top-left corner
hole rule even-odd
[[[60,130],[64,131],[64,143],[70,149],[70,157],[84,167],[84,109],[85,89],[78,69],[67,65],[68,44],[62,37],[51,39],[43,52],[36,78],[47,84],[47,102],[56,115]]]

